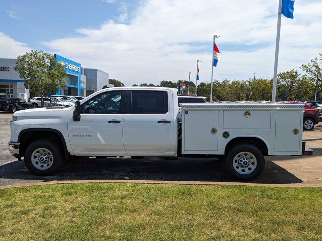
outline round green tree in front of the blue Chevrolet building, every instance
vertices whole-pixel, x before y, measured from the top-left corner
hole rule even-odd
[[[25,79],[24,85],[31,93],[41,97],[41,106],[44,106],[44,97],[56,93],[66,86],[68,80],[63,65],[57,62],[52,54],[32,50],[18,56],[15,70],[20,78]]]

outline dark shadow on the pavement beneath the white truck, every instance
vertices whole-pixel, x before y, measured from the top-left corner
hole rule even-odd
[[[11,179],[10,183],[4,179]],[[0,185],[35,181],[98,179],[236,182],[225,171],[223,163],[215,158],[163,160],[157,157],[144,159],[84,157],[63,163],[57,174],[48,177],[33,175],[27,170],[24,163],[19,161],[0,166]],[[249,183],[290,184],[302,182],[301,179],[284,168],[272,161],[267,161],[260,177]]]

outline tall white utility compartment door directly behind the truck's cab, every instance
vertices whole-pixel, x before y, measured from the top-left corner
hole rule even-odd
[[[182,110],[184,151],[218,150],[218,110]]]

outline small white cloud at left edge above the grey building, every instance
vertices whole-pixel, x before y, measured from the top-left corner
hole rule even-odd
[[[0,56],[2,58],[17,58],[18,55],[31,50],[26,44],[15,41],[2,32],[0,32],[0,43]]]

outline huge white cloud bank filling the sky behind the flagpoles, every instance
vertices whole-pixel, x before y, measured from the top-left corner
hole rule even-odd
[[[100,68],[126,85],[182,80],[200,63],[200,79],[211,78],[212,35],[221,52],[216,79],[272,78],[277,3],[245,0],[138,2],[131,19],[107,20],[77,29],[80,37],[43,44],[83,66]],[[282,19],[279,71],[299,69],[320,52],[322,13],[318,1],[296,2],[294,19]],[[120,16],[128,9],[120,11]],[[129,15],[126,16],[128,18]],[[233,49],[221,46],[233,45]],[[239,48],[238,48],[239,46]]]

